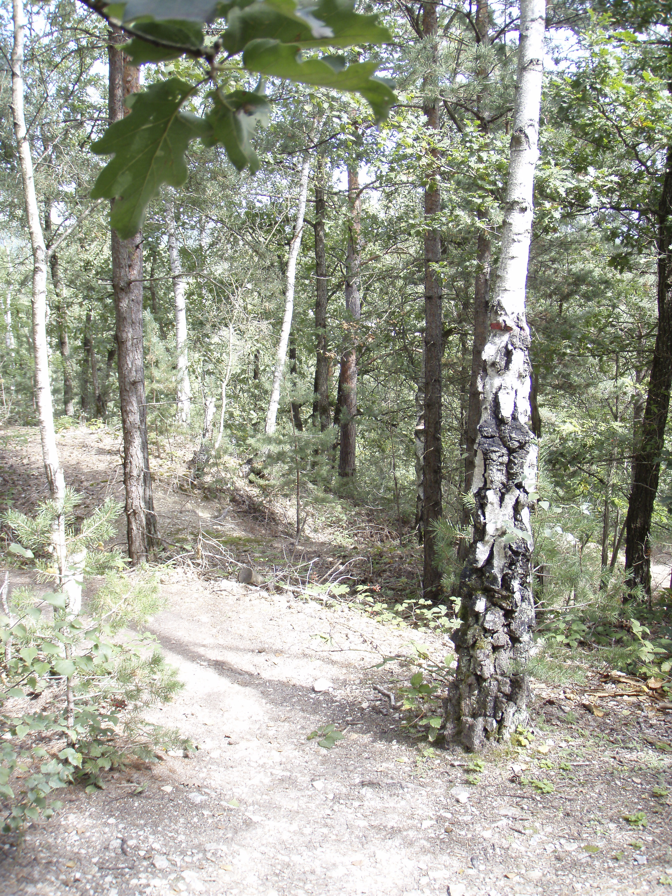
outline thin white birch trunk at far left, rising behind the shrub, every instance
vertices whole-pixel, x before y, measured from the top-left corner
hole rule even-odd
[[[23,199],[26,220],[32,247],[32,347],[35,358],[34,395],[39,417],[39,437],[42,444],[47,485],[52,501],[56,503],[58,515],[53,533],[53,546],[61,581],[65,575],[65,477],[56,448],[54,429],[54,407],[49,382],[49,361],[47,353],[47,247],[39,219],[38,201],[35,194],[30,142],[23,113],[23,34],[26,27],[22,0],[13,0],[13,49],[12,49],[12,116],[16,146],[21,166]]]

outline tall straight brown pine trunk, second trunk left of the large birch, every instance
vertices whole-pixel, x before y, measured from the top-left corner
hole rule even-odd
[[[436,4],[424,4],[422,33],[431,47],[431,65],[425,79],[423,110],[429,130],[428,139],[434,139],[433,131],[440,126],[438,85],[438,22]],[[437,149],[430,154],[438,161]],[[441,359],[443,347],[442,288],[436,266],[441,260],[441,231],[434,226],[435,216],[441,211],[441,189],[438,177],[432,173],[425,187],[425,451],[423,455],[423,508],[422,529],[425,557],[422,587],[426,599],[435,601],[441,596],[441,573],[436,564],[435,533],[432,524],[443,514],[442,496],[442,446],[441,446]]]

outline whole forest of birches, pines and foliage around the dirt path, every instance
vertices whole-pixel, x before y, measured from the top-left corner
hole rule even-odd
[[[406,685],[432,743],[524,739],[530,676],[577,663],[672,708],[671,29],[662,0],[3,5],[0,440],[42,465],[30,495],[0,468],[2,550],[52,588],[5,579],[8,737],[61,732],[65,781],[127,664],[136,737],[177,678],[113,636],[176,558],[269,581],[166,529],[171,477],[254,504],[286,565],[347,547],[323,596],[450,636]],[[82,505],[68,434],[116,439],[120,503]]]

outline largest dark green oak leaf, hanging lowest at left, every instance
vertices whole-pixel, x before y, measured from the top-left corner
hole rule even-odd
[[[152,84],[126,99],[131,114],[110,125],[91,150],[114,153],[100,172],[91,198],[116,199],[110,224],[129,239],[140,230],[147,205],[162,184],[186,180],[185,151],[190,141],[210,134],[210,125],[180,111],[194,88],[179,78]]]

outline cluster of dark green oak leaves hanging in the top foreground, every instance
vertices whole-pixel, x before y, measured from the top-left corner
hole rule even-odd
[[[174,60],[183,54],[202,57],[211,66],[202,80],[215,85],[208,94],[213,106],[202,118],[183,109],[202,81],[194,84],[170,77],[152,84],[127,98],[131,115],[110,125],[92,144],[95,153],[114,154],[99,174],[91,197],[116,199],[111,224],[120,237],[132,237],[142,227],[147,206],[162,184],[177,187],[185,183],[185,152],[197,137],[206,146],[223,145],[239,170],[259,168],[249,138],[257,121],[265,123],[268,106],[261,90],[258,94],[246,90],[225,94],[221,89],[219,75],[239,71],[238,64],[229,61],[233,57],[240,56],[239,64],[247,72],[359,93],[376,120],[383,119],[396,98],[387,82],[373,77],[377,63],[347,65],[341,56],[301,58],[303,48],[349,47],[389,39],[375,16],[354,13],[353,6],[349,0],[321,0],[307,9],[293,0],[281,4],[265,0],[217,4],[214,10],[204,4],[187,10],[186,4],[175,2],[162,9],[149,3],[108,7],[107,14],[116,21],[121,19],[134,35],[129,53],[136,65]],[[226,16],[228,27],[218,44],[205,46],[200,22],[209,20],[215,11]],[[185,19],[180,20],[181,14]],[[226,57],[217,64],[222,48]]]

